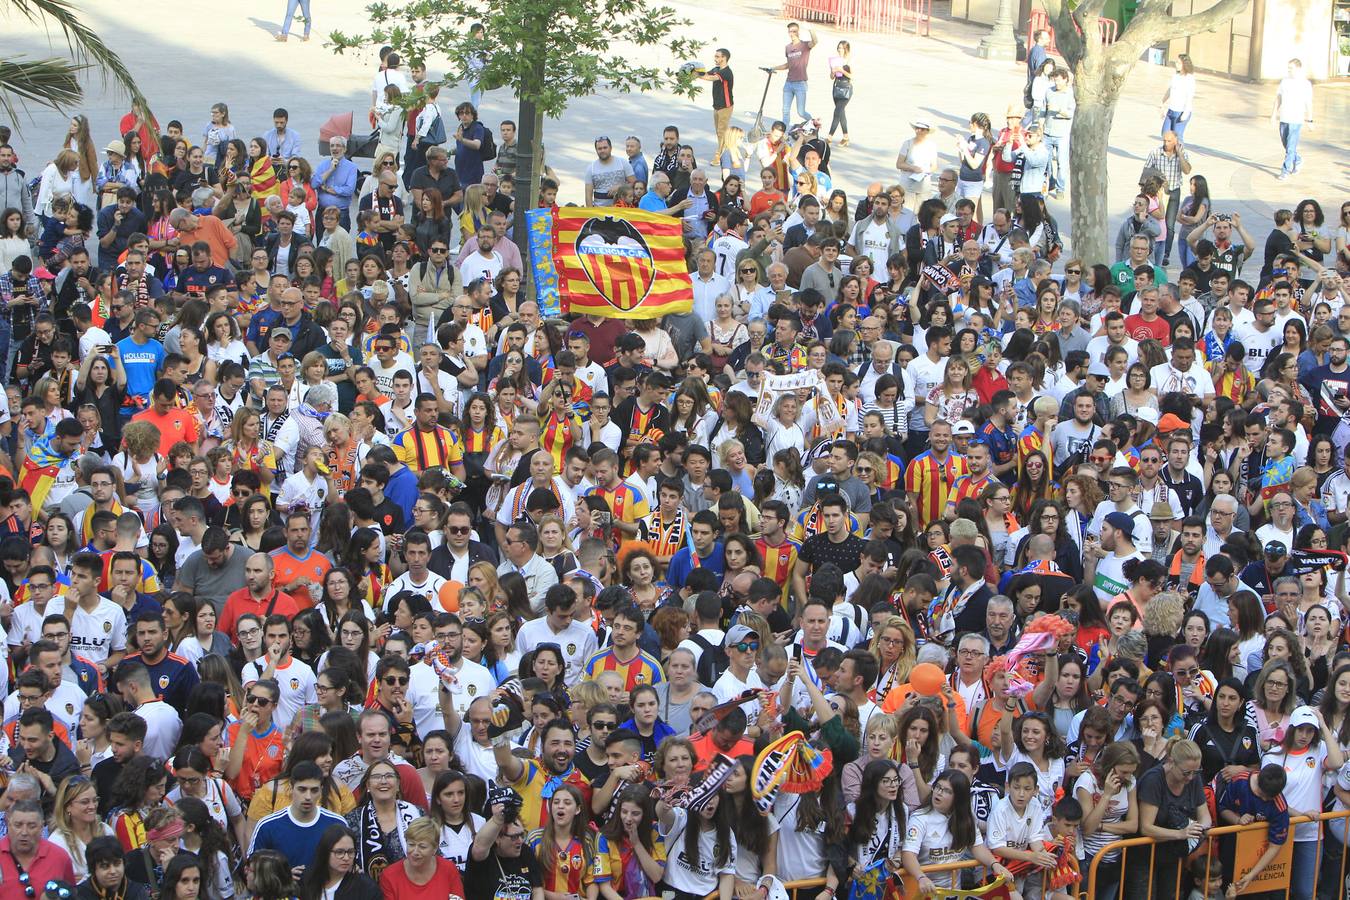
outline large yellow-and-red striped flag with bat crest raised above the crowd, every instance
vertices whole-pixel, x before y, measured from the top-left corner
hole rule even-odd
[[[564,206],[554,216],[554,263],[563,312],[656,318],[694,308],[680,220],[671,216]]]

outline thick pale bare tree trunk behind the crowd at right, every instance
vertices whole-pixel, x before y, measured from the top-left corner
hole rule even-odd
[[[1072,255],[1115,262],[1111,247],[1111,209],[1107,198],[1108,147],[1120,80],[1111,74],[1102,54],[1088,54],[1076,67],[1073,97],[1077,109],[1069,138],[1069,194]]]

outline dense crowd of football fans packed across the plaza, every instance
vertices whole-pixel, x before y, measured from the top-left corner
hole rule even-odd
[[[509,221],[559,177],[396,53],[370,173],[223,103],[0,140],[0,900],[1206,900],[1289,841],[1342,895],[1291,816],[1350,808],[1350,204],[1253,260],[1183,59],[1073,258],[1041,36],[855,204],[802,31],[764,136],[718,50],[703,166],[595,140],[587,205],[683,223],[662,318],[544,318]]]

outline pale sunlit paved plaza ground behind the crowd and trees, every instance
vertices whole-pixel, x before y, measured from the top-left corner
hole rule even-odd
[[[783,19],[776,5],[764,0],[678,0],[672,5],[693,20],[691,35],[706,40],[702,54],[711,62],[713,47],[732,50],[737,73],[734,121],[749,127],[763,90],[761,65],[782,61],[786,42]],[[938,3],[942,15],[948,4]],[[370,101],[374,54],[335,55],[323,36],[333,28],[358,32],[363,24],[363,4],[344,0],[315,0],[315,39],[289,43],[271,39],[285,11],[284,0],[252,0],[243,7],[201,7],[170,0],[139,0],[132,7],[82,3],[89,24],[107,40],[139,80],[159,121],[180,119],[189,135],[200,135],[215,101],[230,104],[240,138],[262,134],[270,127],[274,107],[286,107],[292,125],[304,138],[306,155],[317,155],[319,124],[328,116],[355,111],[364,120]],[[128,15],[134,13],[134,15]],[[298,23],[296,32],[298,35]],[[836,186],[850,201],[871,181],[891,181],[900,142],[910,136],[907,123],[927,119],[938,131],[944,165],[954,157],[949,150],[972,112],[984,111],[998,123],[1008,101],[1021,97],[1021,63],[987,62],[975,55],[984,27],[937,19],[930,38],[915,35],[845,34],[815,28],[821,43],[810,69],[809,109],[828,125],[832,104],[825,80],[826,57],[834,42],[846,38],[853,46],[856,93],[849,104],[852,144],[838,148],[832,170]],[[0,53],[45,57],[59,51],[59,35],[49,50],[47,36],[27,23],[9,19],[0,34]],[[660,50],[643,50],[644,61],[670,65]],[[429,61],[432,74],[441,66]],[[1139,63],[1131,73],[1111,134],[1111,155],[1104,167],[1111,173],[1110,208],[1119,220],[1135,193],[1143,158],[1157,143],[1158,99],[1168,84],[1169,70]],[[1350,196],[1350,169],[1338,148],[1350,143],[1350,85],[1316,88],[1314,130],[1304,130],[1303,171],[1288,182],[1277,182],[1281,148],[1269,124],[1273,85],[1250,85],[1226,78],[1200,76],[1195,119],[1187,132],[1195,171],[1210,181],[1219,212],[1238,210],[1253,236],[1261,242],[1269,231],[1270,213],[1293,206],[1301,197],[1316,197],[1330,216]],[[441,93],[448,113],[467,92]],[[487,96],[482,119],[495,125],[514,117],[514,99],[506,90]],[[776,116],[782,107],[782,73],[775,76],[767,111]],[[82,109],[92,120],[94,140],[101,148],[115,136],[117,119],[127,111],[124,97],[109,90],[94,76],[88,84]],[[30,108],[30,115],[14,123],[20,165],[36,174],[58,148],[65,134],[63,115]],[[691,101],[670,93],[621,94],[602,92],[575,101],[559,121],[547,123],[548,162],[563,179],[560,201],[582,200],[579,175],[594,158],[591,140],[609,135],[622,139],[639,135],[651,159],[667,124],[680,127],[693,143],[699,162],[711,155],[711,111],[706,93]],[[369,165],[369,163],[367,163]],[[1091,161],[1100,166],[1103,161]],[[714,177],[714,186],[720,179]],[[986,200],[986,205],[987,205]],[[1061,228],[1069,228],[1068,200],[1052,202]],[[1114,233],[1114,227],[1112,232]],[[1072,236],[1071,236],[1072,251]],[[1173,263],[1174,264],[1174,263]]]

